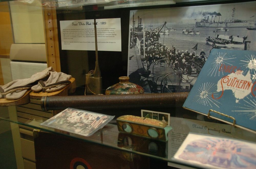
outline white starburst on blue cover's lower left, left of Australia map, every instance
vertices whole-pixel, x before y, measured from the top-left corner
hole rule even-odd
[[[202,83],[201,86],[198,88],[193,100],[196,103],[202,104],[204,106],[213,107],[215,105],[219,107],[218,105],[220,105],[221,103],[212,98],[212,94],[217,93],[216,88],[217,87],[214,83]]]

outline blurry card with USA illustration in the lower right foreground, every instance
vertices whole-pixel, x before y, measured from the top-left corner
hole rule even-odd
[[[203,168],[256,167],[255,142],[189,133],[174,161]]]

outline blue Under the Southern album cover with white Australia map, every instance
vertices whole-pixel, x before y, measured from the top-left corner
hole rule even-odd
[[[204,115],[213,110],[210,117],[255,132],[255,57],[256,51],[213,49],[183,107]]]

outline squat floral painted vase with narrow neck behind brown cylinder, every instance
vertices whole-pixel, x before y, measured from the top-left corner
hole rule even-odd
[[[134,83],[129,82],[129,77],[121,76],[119,77],[119,83],[116,83],[108,87],[105,94],[142,94],[144,89]]]

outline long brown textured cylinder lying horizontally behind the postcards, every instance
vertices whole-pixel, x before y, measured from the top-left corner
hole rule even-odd
[[[129,108],[168,108],[182,106],[188,92],[81,95],[81,96],[43,96],[42,110],[64,110],[67,107],[82,110],[111,110]]]

